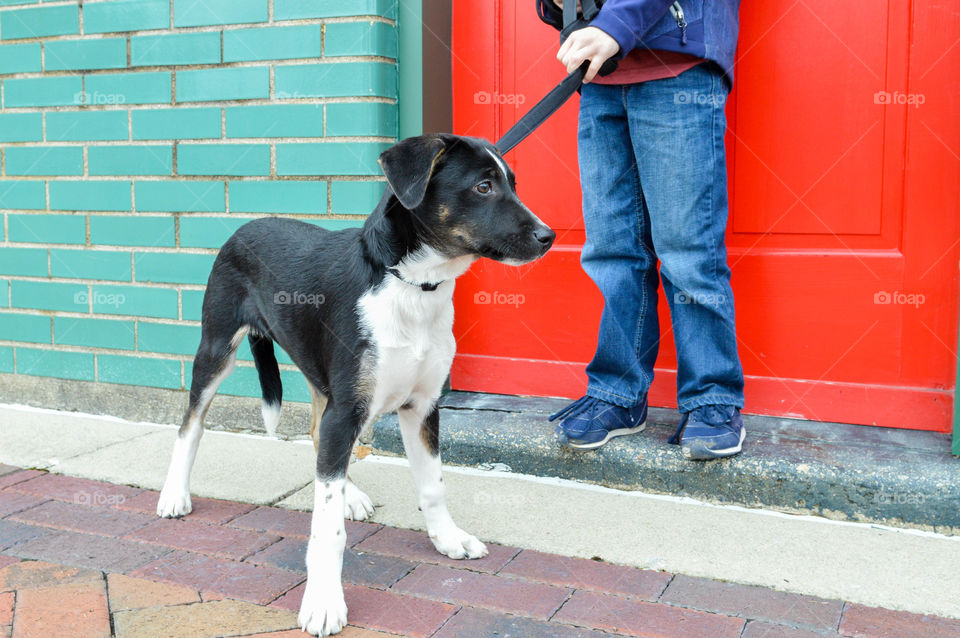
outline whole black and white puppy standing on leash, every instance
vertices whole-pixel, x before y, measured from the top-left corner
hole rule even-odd
[[[307,378],[317,447],[307,586],[300,625],[340,631],[344,516],[373,503],[347,479],[361,430],[396,410],[427,533],[452,558],[487,549],[447,511],[437,399],[453,361],[454,279],[480,257],[523,264],[555,233],[520,202],[513,172],[489,142],[455,135],[403,140],[380,156],[387,187],[360,229],[327,231],[283,218],[252,221],[220,250],[203,299],[190,404],[157,513],[191,511],[189,476],[203,418],[244,337],[273,434],[280,416],[277,342]]]

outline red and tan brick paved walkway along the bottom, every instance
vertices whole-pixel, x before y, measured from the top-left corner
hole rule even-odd
[[[0,465],[0,638],[303,636],[309,514]],[[956,638],[960,620],[347,522],[347,638]]]

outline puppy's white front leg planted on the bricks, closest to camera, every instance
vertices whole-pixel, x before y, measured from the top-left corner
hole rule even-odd
[[[357,428],[346,412],[328,409],[320,424],[313,519],[307,544],[307,586],[298,617],[304,631],[318,636],[338,633],[347,624],[347,605],[340,584],[347,540],[343,508],[347,464]]]

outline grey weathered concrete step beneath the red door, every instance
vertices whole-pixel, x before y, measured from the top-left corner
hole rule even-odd
[[[593,452],[564,449],[547,416],[565,404],[451,393],[441,400],[444,462],[960,533],[960,460],[950,456],[946,434],[747,416],[741,455],[695,463],[667,444],[679,416],[665,409],[651,409],[638,435]],[[374,426],[372,444],[378,454],[403,454],[395,416]]]

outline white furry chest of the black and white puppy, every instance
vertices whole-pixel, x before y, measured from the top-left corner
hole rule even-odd
[[[456,351],[452,297],[452,281],[422,291],[389,277],[357,302],[376,352],[363,374],[372,385],[370,418],[439,396]]]

